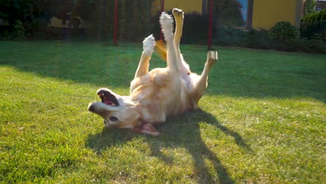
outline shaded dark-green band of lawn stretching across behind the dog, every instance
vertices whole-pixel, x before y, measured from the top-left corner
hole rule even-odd
[[[190,45],[182,48],[193,72],[200,73],[203,69],[204,48]],[[325,55],[227,47],[217,50],[219,61],[210,72],[206,94],[253,98],[311,97],[325,102]],[[141,43],[107,47],[103,43],[88,42],[8,41],[0,44],[0,66],[13,66],[41,77],[114,90],[130,86],[141,51]],[[164,65],[154,54],[150,68]]]

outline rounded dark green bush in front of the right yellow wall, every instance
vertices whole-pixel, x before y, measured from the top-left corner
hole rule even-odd
[[[299,38],[299,31],[290,22],[277,22],[268,31],[268,36],[277,44],[287,44]]]

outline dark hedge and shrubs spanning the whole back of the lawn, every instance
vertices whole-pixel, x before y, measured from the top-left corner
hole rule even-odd
[[[241,4],[236,0],[217,1],[219,6],[213,6],[213,45],[326,53],[326,11],[316,13],[313,0],[307,0],[300,30],[289,22],[279,22],[269,31],[244,29]],[[151,13],[152,2],[118,1],[119,41],[140,43],[151,33],[160,39],[160,12]],[[69,27],[52,27],[53,17]],[[114,0],[0,0],[0,19],[6,22],[0,29],[2,40],[111,40]],[[81,20],[89,27],[81,28]],[[206,45],[208,20],[207,14],[185,13],[182,43]]]

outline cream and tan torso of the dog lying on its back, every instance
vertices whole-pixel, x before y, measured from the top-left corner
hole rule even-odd
[[[143,107],[143,116],[150,123],[164,122],[191,109],[191,99],[183,79],[166,68],[157,68],[132,82],[136,88],[130,96]]]

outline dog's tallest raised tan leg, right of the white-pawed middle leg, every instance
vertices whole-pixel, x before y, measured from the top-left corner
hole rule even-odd
[[[174,33],[174,47],[176,49],[176,56],[178,59],[178,69],[180,74],[187,74],[189,75],[189,65],[183,59],[183,55],[180,52],[180,40],[181,36],[183,36],[183,10],[178,8],[174,8],[173,11],[174,19],[176,20],[176,32]]]

